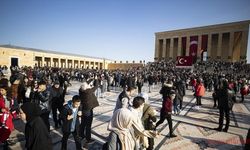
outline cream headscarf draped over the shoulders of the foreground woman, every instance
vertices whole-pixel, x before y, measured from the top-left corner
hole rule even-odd
[[[115,132],[121,143],[122,150],[134,149],[135,141],[130,133],[133,123],[133,116],[127,108],[121,108],[114,112],[111,121],[108,124],[108,130]]]

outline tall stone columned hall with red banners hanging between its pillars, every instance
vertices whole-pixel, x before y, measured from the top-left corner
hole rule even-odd
[[[250,20],[155,33],[155,61],[195,59],[246,60]]]

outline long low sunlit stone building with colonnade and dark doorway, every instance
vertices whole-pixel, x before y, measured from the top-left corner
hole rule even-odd
[[[13,45],[0,45],[0,65],[108,69],[111,60]]]

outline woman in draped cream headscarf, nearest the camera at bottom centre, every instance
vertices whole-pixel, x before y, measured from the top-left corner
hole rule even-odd
[[[103,147],[108,150],[133,150],[136,146],[136,137],[154,138],[158,135],[158,132],[141,128],[136,122],[134,114],[127,108],[114,112],[108,124],[108,130],[111,132],[108,142]]]

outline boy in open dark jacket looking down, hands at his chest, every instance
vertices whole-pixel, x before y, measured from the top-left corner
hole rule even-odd
[[[72,101],[68,101],[68,104],[64,105],[61,117],[63,120],[62,126],[62,150],[67,150],[67,141],[69,135],[72,133],[76,143],[76,149],[82,150],[81,148],[81,138],[79,136],[79,118],[82,116],[82,112],[79,111],[81,104],[80,97],[78,95],[73,96]]]

